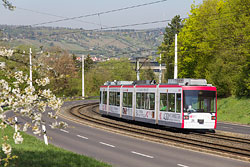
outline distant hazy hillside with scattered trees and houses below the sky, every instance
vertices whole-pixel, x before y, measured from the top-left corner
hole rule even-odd
[[[58,46],[74,54],[133,57],[155,54],[164,29],[87,31],[83,29],[0,25],[1,43],[11,47]]]

